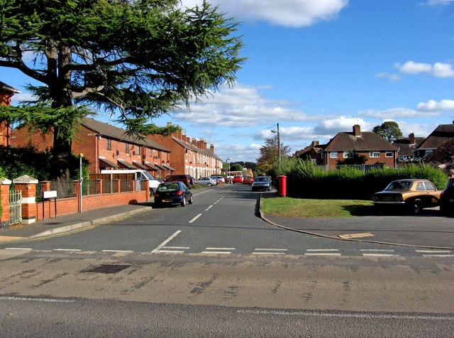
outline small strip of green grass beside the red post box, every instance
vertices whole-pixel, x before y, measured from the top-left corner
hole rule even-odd
[[[290,197],[262,198],[262,212],[285,217],[353,217],[375,214],[364,200],[311,200]]]

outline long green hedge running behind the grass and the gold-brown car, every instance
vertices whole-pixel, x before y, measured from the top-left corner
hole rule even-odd
[[[325,170],[310,161],[296,158],[282,159],[275,167],[276,177],[287,176],[287,195],[296,198],[370,200],[374,192],[381,191],[389,182],[403,178],[431,180],[438,189],[444,189],[448,175],[430,165],[407,165],[404,168],[380,168],[363,172],[343,167]],[[278,186],[277,182],[275,185]]]

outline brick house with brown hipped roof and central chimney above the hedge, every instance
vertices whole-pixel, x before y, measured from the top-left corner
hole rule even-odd
[[[331,138],[322,151],[322,163],[329,169],[336,168],[337,161],[347,158],[350,152],[365,156],[367,165],[394,168],[398,149],[382,136],[373,131],[361,131],[355,124],[352,132],[341,132]]]

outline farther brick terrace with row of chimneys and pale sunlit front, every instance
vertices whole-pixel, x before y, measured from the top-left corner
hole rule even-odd
[[[148,135],[153,141],[162,144],[172,151],[172,167],[176,175],[191,175],[201,178],[220,175],[222,160],[214,153],[214,145],[207,148],[206,141],[184,135],[179,129],[170,136]]]

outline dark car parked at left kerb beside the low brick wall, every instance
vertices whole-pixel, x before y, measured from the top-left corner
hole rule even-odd
[[[183,182],[164,182],[155,192],[155,207],[162,205],[192,205],[192,192]]]

